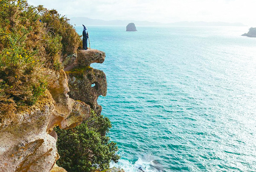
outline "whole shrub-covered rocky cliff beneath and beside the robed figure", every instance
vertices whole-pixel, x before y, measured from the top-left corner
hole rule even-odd
[[[0,172],[108,169],[119,156],[97,103],[107,81],[90,67],[105,53],[80,50],[56,10],[5,0],[0,11]]]

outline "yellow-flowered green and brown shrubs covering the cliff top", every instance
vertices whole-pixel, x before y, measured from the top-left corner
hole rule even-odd
[[[55,10],[26,0],[0,0],[0,126],[47,89],[44,68],[60,70],[59,59],[73,54],[80,36]]]

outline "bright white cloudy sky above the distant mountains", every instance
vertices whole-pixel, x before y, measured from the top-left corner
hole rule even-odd
[[[147,20],[173,23],[205,21],[256,27],[256,0],[28,0],[71,17]]]

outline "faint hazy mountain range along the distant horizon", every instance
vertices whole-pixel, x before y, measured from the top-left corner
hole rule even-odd
[[[173,25],[173,26],[246,26],[243,23],[225,23],[225,22],[175,22],[175,23],[158,23],[148,21],[136,21],[136,20],[99,20],[90,19],[87,17],[73,17],[70,18],[70,24],[72,25],[128,25],[128,23],[135,23],[135,25]]]

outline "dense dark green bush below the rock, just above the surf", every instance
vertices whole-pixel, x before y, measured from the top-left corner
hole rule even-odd
[[[108,118],[93,112],[87,121],[69,130],[55,128],[60,159],[57,165],[68,172],[93,172],[109,168],[117,162],[116,143],[110,142],[105,133],[111,123]]]

